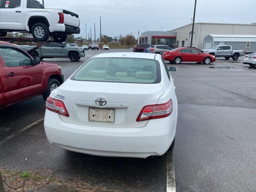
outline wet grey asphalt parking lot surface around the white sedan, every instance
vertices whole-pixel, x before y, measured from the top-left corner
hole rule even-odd
[[[123,50],[110,50],[116,51]],[[44,61],[60,64],[66,79],[101,52],[86,51],[76,63],[68,58]],[[90,156],[51,146],[43,122],[33,125],[44,117],[45,102],[38,96],[0,110],[0,167],[52,169],[62,179],[112,190],[169,192],[174,190],[174,164],[178,192],[255,191],[256,69],[244,66],[242,58],[172,66],[178,68],[172,73],[178,98],[174,152],[144,160]]]

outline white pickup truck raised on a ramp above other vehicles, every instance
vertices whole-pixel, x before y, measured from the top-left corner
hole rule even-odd
[[[78,14],[63,9],[45,9],[36,0],[0,0],[0,36],[7,32],[31,33],[39,41],[52,36],[64,42],[68,34],[79,34]]]

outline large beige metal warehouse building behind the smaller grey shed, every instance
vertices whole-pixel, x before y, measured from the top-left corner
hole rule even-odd
[[[178,47],[189,46],[191,31],[192,31],[192,24],[189,24],[180,28],[176,28],[174,30],[170,30],[170,32],[177,33],[176,46]],[[256,25],[255,24],[196,23],[194,28],[193,46],[202,49],[204,47],[204,38],[209,34],[256,35]],[[239,40],[239,38],[237,38],[236,40]],[[243,49],[244,39],[242,39],[242,36],[240,36],[240,40],[242,40],[243,42],[243,44],[241,44],[241,47],[239,46],[238,47],[235,46],[235,47],[239,49]],[[218,41],[216,40],[214,43],[217,43],[217,42]],[[253,41],[249,41],[249,38],[246,40],[246,42],[251,42],[252,44],[254,44]],[[236,42],[235,45],[238,45],[238,42]],[[256,48],[254,48],[254,46],[251,47],[251,51],[256,51]]]

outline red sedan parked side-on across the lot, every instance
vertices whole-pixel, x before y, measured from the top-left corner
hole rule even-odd
[[[181,62],[203,62],[210,64],[215,62],[216,58],[213,55],[205,54],[195,48],[176,48],[170,51],[165,51],[162,55],[164,60],[180,64]]]

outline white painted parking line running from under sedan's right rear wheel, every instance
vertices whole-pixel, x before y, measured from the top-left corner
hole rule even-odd
[[[176,192],[173,150],[167,152],[166,192]]]

